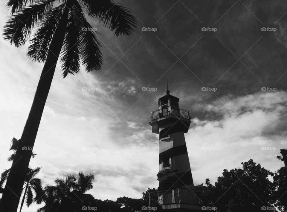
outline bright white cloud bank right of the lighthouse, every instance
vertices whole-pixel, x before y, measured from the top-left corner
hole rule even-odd
[[[223,96],[210,104],[196,104],[193,110],[220,113],[217,120],[193,118],[186,134],[193,178],[196,183],[212,182],[225,168],[240,167],[254,159],[271,171],[281,167],[276,155],[286,148],[286,91],[257,92],[246,96]],[[216,148],[202,151],[202,147]],[[274,147],[275,151],[262,151]]]

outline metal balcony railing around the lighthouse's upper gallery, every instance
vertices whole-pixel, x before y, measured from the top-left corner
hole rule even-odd
[[[171,106],[151,112],[151,119],[155,120],[155,119],[158,119],[158,118],[170,115],[170,114],[173,114],[178,117],[190,119],[189,111],[183,110],[180,108],[171,107]]]

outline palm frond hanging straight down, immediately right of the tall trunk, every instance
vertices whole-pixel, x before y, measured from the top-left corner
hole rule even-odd
[[[70,7],[72,10],[73,5]],[[68,74],[74,75],[80,71],[80,26],[76,24],[72,11],[68,15],[68,24],[61,52],[61,70],[65,78]]]

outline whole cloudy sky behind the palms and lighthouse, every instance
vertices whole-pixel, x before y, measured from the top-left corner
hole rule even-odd
[[[42,167],[43,185],[83,171],[95,175],[89,193],[97,199],[141,198],[147,188],[157,188],[158,135],[148,122],[167,80],[180,108],[190,111],[185,139],[195,185],[206,178],[214,183],[223,169],[239,168],[249,159],[270,171],[283,166],[276,156],[286,148],[287,136],[286,5],[118,3],[137,19],[131,36],[117,38],[88,18],[101,33],[102,69],[81,68],[62,78],[57,65],[33,150],[37,155],[30,161],[30,167]],[[9,13],[1,1],[1,29]],[[1,36],[0,46],[4,170],[11,166],[10,141],[21,137],[43,64],[27,58],[27,44],[16,48]]]

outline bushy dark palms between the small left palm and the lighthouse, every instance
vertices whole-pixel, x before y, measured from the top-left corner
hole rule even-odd
[[[83,206],[91,206],[94,197],[85,192],[93,188],[93,179],[93,174],[84,175],[83,172],[79,172],[77,178],[71,174],[65,180],[57,178],[54,181],[56,185],[44,188],[42,200],[45,205],[37,212],[73,212],[82,211]]]

